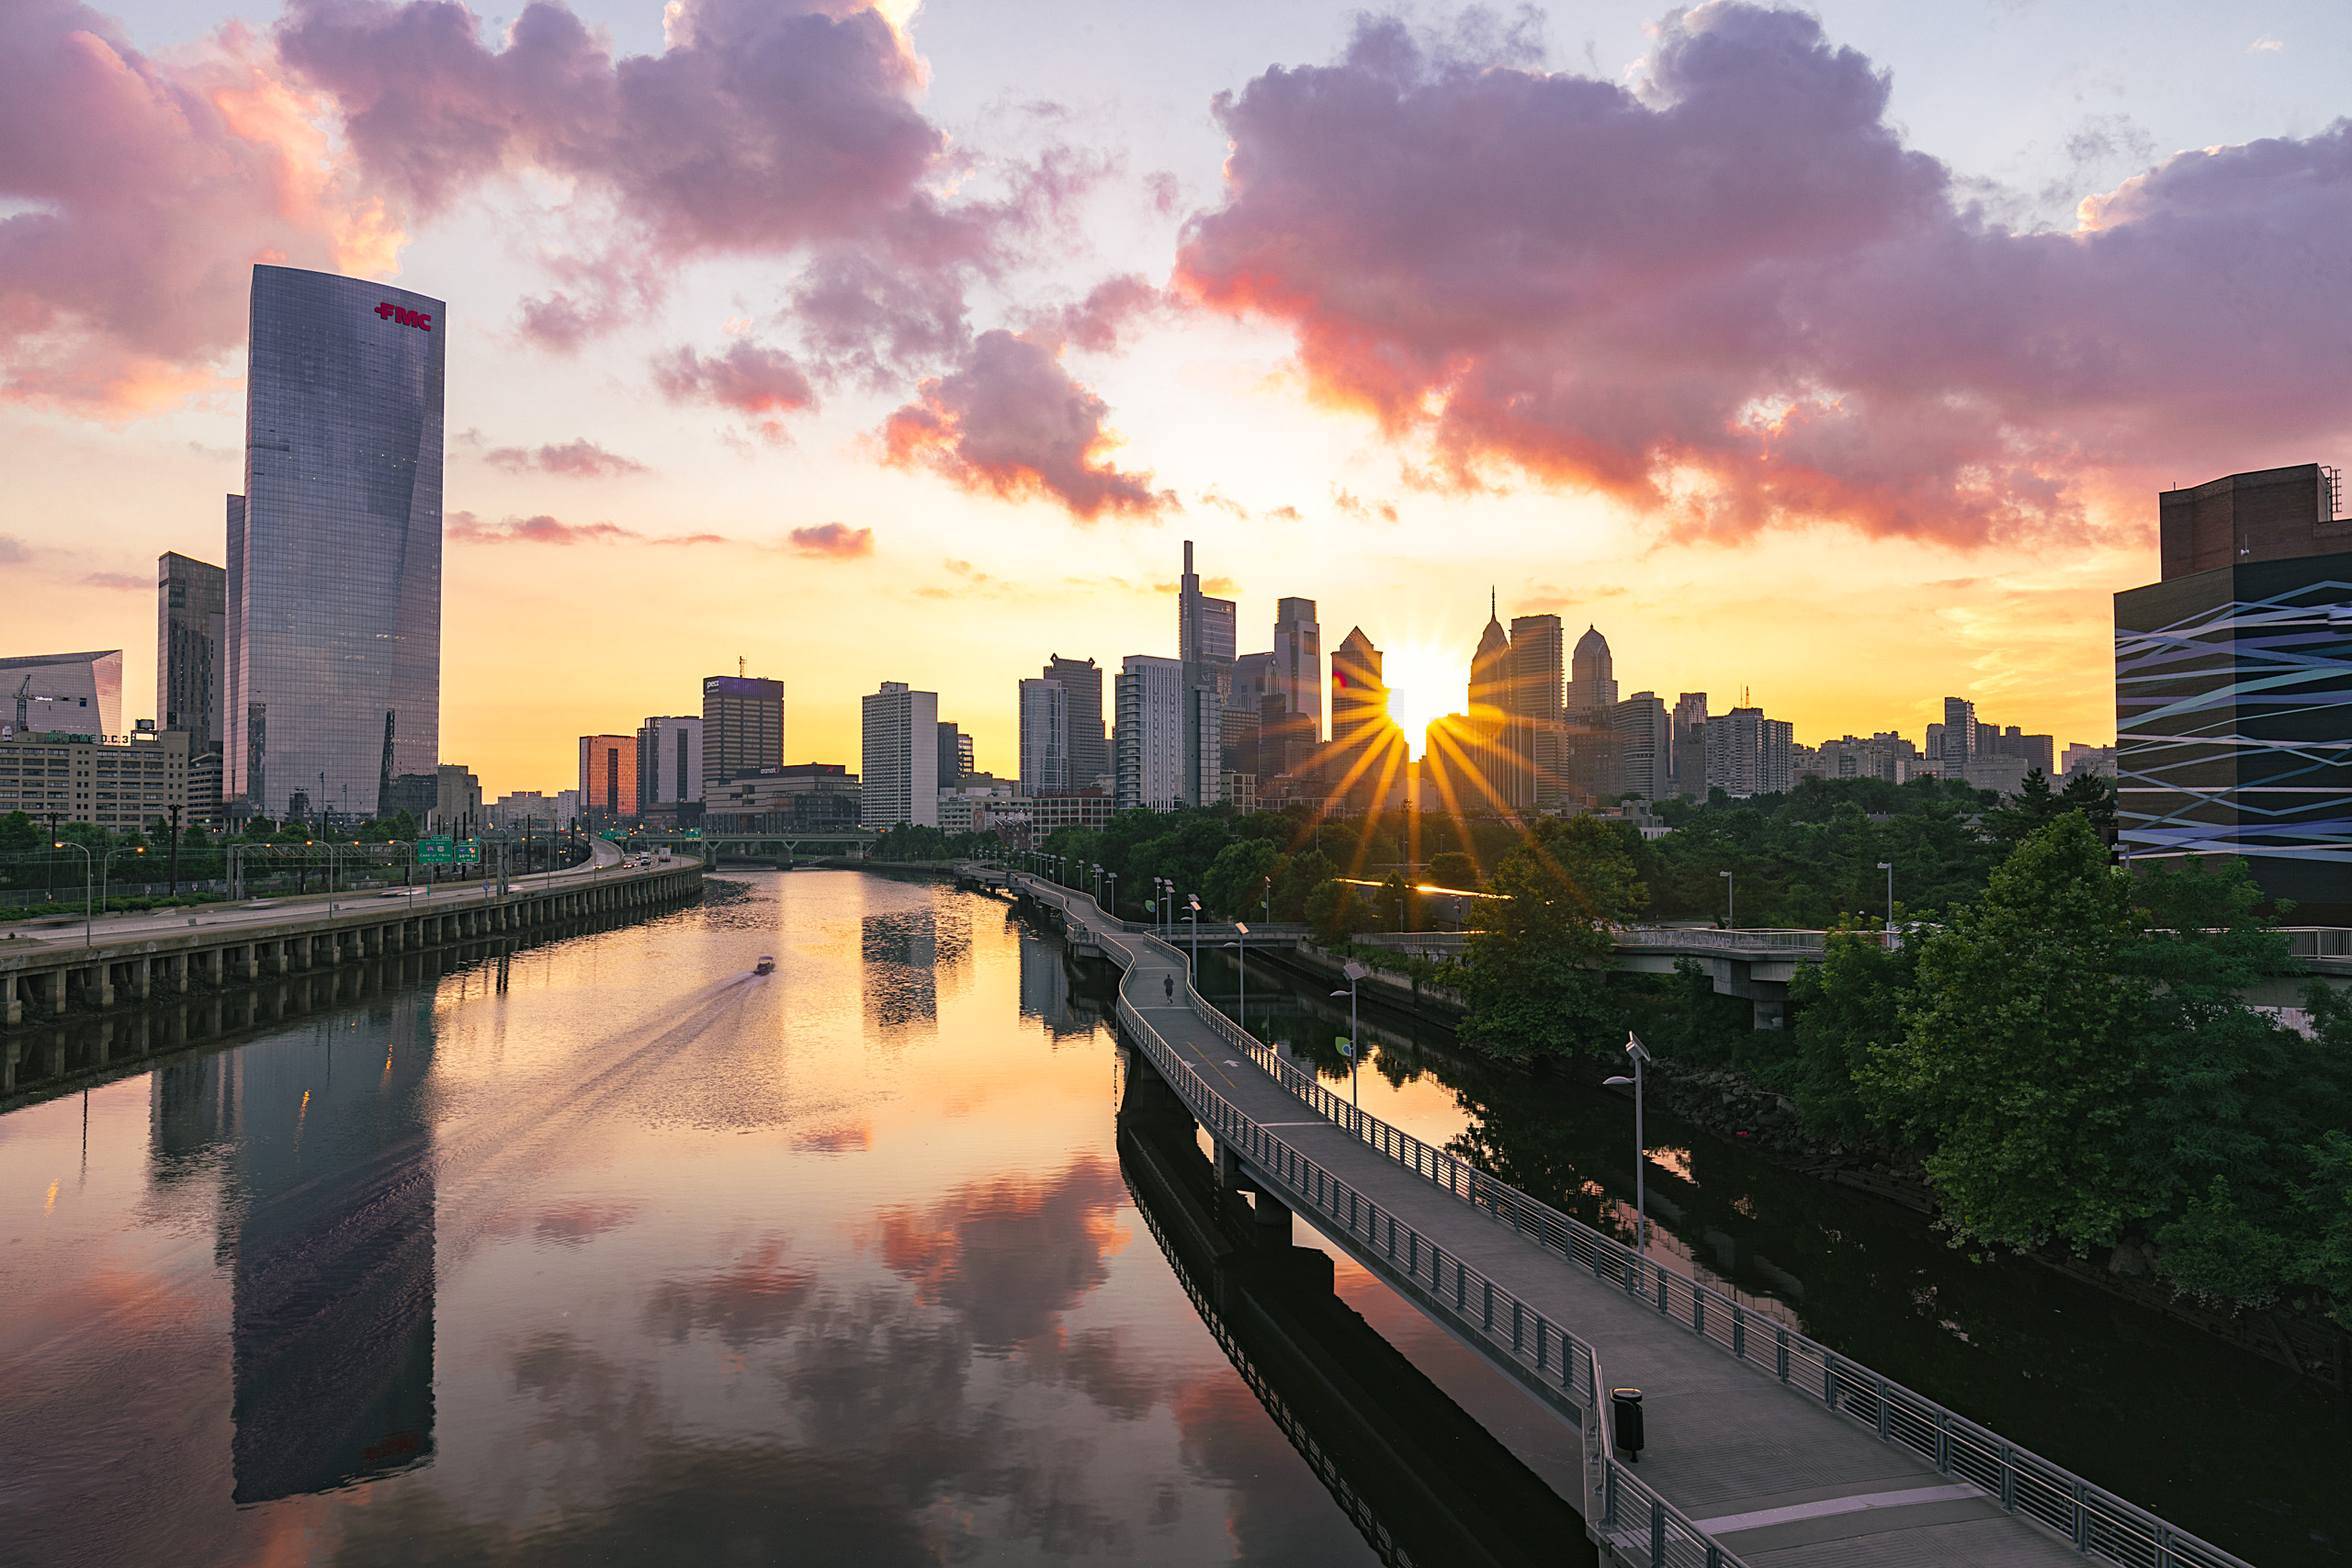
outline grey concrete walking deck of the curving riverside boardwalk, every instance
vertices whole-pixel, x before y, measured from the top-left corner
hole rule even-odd
[[[1089,947],[1124,971],[1122,1023],[1129,1032],[1157,1037],[1155,1048],[1171,1060],[1155,1065],[1211,1135],[1237,1152],[1237,1185],[1294,1208],[1573,1425],[1585,1450],[1585,1528],[1609,1561],[1990,1568],[2056,1566],[2089,1554],[2133,1568],[2237,1566],[2230,1554],[2178,1535],[2119,1500],[2086,1500],[2082,1483],[2067,1497],[2072,1512],[2053,1519],[2049,1507],[2023,1497],[2027,1488],[2006,1467],[2006,1446],[2002,1474],[2009,1479],[1992,1486],[1971,1483],[1964,1465],[1938,1469],[1912,1446],[1882,1436],[1893,1408],[1886,1399],[1891,1385],[1877,1385],[1879,1427],[1872,1427],[1776,1378],[1769,1354],[1762,1368],[1752,1349],[1750,1359],[1729,1354],[1661,1309],[1658,1302],[1670,1300],[1663,1281],[1679,1276],[1656,1267],[1642,1276],[1604,1276],[1599,1251],[1588,1272],[1571,1262],[1578,1255],[1573,1246],[1564,1255],[1557,1244],[1526,1234],[1519,1220],[1498,1218],[1494,1208],[1475,1206],[1399,1164],[1374,1147],[1362,1126],[1334,1121],[1324,1114],[1329,1105],[1317,1110],[1296,1086],[1263,1070],[1237,1044],[1230,1020],[1190,997],[1178,950],[1124,931],[1082,893],[1033,877],[1016,877],[1014,886],[1061,910],[1073,926],[1084,926]],[[1343,1190],[1345,1208],[1336,1206]],[[1369,1225],[1362,1222],[1367,1208],[1374,1215]],[[1341,1222],[1334,1225],[1334,1218]],[[1390,1244],[1411,1232],[1411,1255],[1388,1255],[1383,1222]],[[1444,1248],[1442,1262],[1430,1260],[1421,1237]],[[1621,1279],[1639,1279],[1642,1293],[1630,1293]],[[1661,1281],[1656,1302],[1649,1295],[1653,1279]],[[1479,1291],[1489,1291],[1484,1312]],[[1510,1328],[1494,1326],[1496,1300],[1512,1302]],[[1698,1305],[1696,1312],[1705,1309]],[[1550,1366],[1559,1366],[1557,1340],[1564,1331],[1578,1340],[1578,1354],[1590,1352],[1599,1387],[1642,1389],[1646,1448],[1637,1467],[1628,1469],[1609,1453],[1606,1434],[1585,1408],[1590,1382],[1562,1389],[1557,1373],[1534,1371],[1543,1361],[1543,1340],[1536,1331],[1529,1359],[1519,1314],[1536,1314],[1550,1326]],[[1755,1342],[1771,1345],[1773,1335],[1776,1324],[1755,1319]],[[1785,1354],[1780,1366],[1788,1368]],[[1835,1389],[1835,1361],[1828,1378]],[[1966,1425],[1952,1420],[1955,1429]],[[1971,1427],[1971,1434],[1980,1429]],[[1940,1439],[1929,1448],[1943,1455],[1957,1450]],[[2065,1474],[2032,1455],[2020,1460],[2042,1467],[2034,1476]],[[2004,1495],[2011,1507],[2004,1507]],[[2027,1507],[2039,1523],[2018,1512]],[[2129,1514],[2129,1530],[2107,1528],[2117,1509]]]

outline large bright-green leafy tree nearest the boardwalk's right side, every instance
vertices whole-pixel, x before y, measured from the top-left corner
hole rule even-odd
[[[1933,1147],[1957,1234],[2089,1248],[2161,1208],[2129,1147],[2145,1088],[2143,994],[2122,983],[2133,938],[2129,875],[2067,813],[1922,945],[1903,1034],[1875,1044],[1856,1081],[1879,1124]]]

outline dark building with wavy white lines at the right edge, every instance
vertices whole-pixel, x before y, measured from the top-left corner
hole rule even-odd
[[[2119,849],[2244,856],[2296,924],[2352,924],[2352,520],[2317,463],[2159,498],[2114,595]]]

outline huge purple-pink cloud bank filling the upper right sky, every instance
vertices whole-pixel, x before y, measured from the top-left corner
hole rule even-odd
[[[1178,287],[1289,324],[1312,395],[1442,487],[1973,545],[2347,423],[2352,125],[2180,153],[2020,235],[1900,143],[1865,56],[1736,2],[1677,12],[1632,89],[1376,19],[1218,115]]]

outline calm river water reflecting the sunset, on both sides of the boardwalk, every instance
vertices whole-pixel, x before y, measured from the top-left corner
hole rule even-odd
[[[1336,1070],[1322,990],[1254,966],[1249,1011]],[[1630,1187],[1613,1100],[1402,1048],[1362,1093],[1590,1218]],[[1378,1561],[1155,1246],[1117,1105],[1058,943],[790,872],[9,1112],[0,1561]],[[1663,1227],[1806,1331],[2265,1568],[2340,1561],[2343,1401],[1658,1143]],[[1336,1286],[1564,1483],[1548,1415]]]

